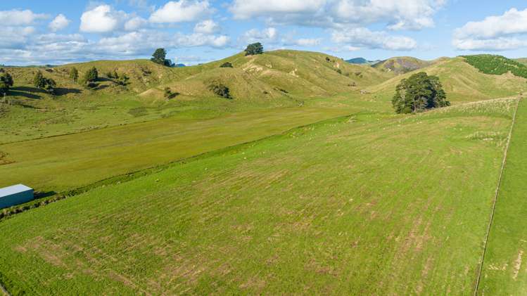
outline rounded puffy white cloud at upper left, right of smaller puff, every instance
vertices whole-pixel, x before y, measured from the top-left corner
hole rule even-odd
[[[112,32],[118,28],[122,12],[116,12],[109,5],[100,5],[85,11],[80,17],[80,30],[89,33]]]

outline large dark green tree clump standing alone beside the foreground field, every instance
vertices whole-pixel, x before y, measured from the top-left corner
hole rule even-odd
[[[415,113],[431,108],[446,107],[450,105],[450,102],[446,99],[439,77],[419,72],[408,79],[402,79],[395,87],[392,105],[395,112]]]

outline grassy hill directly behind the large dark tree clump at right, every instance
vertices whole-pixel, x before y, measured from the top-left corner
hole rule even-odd
[[[447,93],[447,99],[454,104],[514,96],[527,89],[527,79],[511,74],[483,74],[461,57],[443,60],[419,71],[437,75]],[[367,90],[375,100],[389,103],[395,93],[395,86],[401,79],[412,74],[414,72],[393,77]]]

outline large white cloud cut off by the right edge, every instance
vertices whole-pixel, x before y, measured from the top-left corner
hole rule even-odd
[[[454,31],[452,44],[461,50],[504,51],[527,46],[527,9],[467,22]],[[522,38],[523,37],[523,38]]]

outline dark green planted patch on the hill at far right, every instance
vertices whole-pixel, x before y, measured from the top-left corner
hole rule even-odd
[[[476,56],[463,56],[466,63],[473,65],[478,70],[485,74],[502,75],[507,72],[527,78],[527,65],[516,60],[505,58],[504,56],[494,56],[489,54],[482,54]]]

